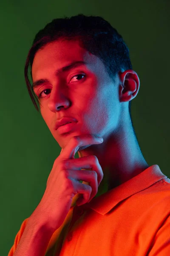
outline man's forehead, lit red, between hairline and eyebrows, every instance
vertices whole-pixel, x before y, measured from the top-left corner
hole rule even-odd
[[[60,40],[49,43],[44,49],[36,52],[32,64],[32,76],[37,79],[40,73],[63,67],[72,61],[85,61],[89,67],[104,68],[102,61],[96,55],[82,48],[79,41]]]

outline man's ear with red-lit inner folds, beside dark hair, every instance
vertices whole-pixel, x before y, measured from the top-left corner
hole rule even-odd
[[[138,94],[140,80],[134,70],[119,72],[119,99],[120,102],[129,102]]]

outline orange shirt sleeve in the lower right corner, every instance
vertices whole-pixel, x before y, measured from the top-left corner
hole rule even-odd
[[[170,255],[170,216],[166,218],[161,228],[156,233],[153,246],[148,256],[167,256]]]

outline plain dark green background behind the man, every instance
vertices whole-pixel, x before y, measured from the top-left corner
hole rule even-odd
[[[0,5],[0,255],[39,204],[61,148],[29,98],[24,66],[35,34],[57,17],[108,20],[130,49],[140,79],[132,119],[147,163],[170,177],[170,3],[155,1],[18,1]],[[75,156],[78,157],[78,154]]]

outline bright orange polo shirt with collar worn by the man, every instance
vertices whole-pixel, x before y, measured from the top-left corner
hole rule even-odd
[[[51,236],[45,256],[170,255],[170,179],[158,165],[89,204],[74,205]],[[8,256],[13,256],[27,221]]]

